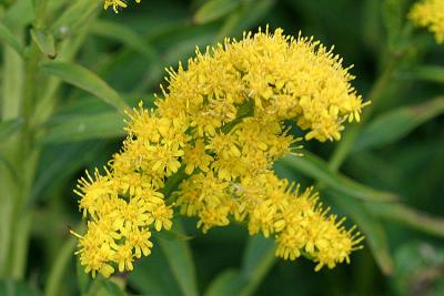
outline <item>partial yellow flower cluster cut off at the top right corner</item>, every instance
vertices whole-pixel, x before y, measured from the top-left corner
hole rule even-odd
[[[444,0],[424,0],[413,6],[408,18],[420,27],[428,28],[437,43],[444,42]]]

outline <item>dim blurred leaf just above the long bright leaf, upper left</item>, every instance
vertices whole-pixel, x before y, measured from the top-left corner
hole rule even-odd
[[[145,42],[141,35],[135,33],[129,27],[113,21],[98,20],[93,23],[91,30],[98,35],[122,42],[123,44],[139,52],[148,61],[152,61],[158,58],[154,48]]]

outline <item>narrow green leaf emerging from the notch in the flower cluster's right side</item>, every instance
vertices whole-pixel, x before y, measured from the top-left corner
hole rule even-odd
[[[286,155],[279,160],[280,163],[293,170],[323,182],[327,187],[363,201],[387,202],[397,198],[391,192],[379,191],[346,176],[333,172],[327,163],[319,156],[303,151],[303,156]]]

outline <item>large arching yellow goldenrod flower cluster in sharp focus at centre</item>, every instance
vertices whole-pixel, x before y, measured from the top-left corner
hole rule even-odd
[[[75,235],[87,272],[131,271],[150,254],[153,228],[171,227],[173,207],[196,216],[203,232],[243,222],[252,235],[273,236],[278,256],[305,254],[316,271],[349,262],[359,233],[327,215],[311,188],[273,172],[276,159],[299,147],[302,137],[292,134],[339,140],[345,120],[360,120],[364,104],[342,60],[278,29],[226,39],[168,72],[157,108],[131,112],[123,149],[105,172],[79,182],[89,222]]]

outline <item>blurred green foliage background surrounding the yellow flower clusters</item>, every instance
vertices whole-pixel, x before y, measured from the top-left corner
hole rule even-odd
[[[444,295],[444,44],[406,0],[2,0],[0,295]],[[131,274],[91,283],[73,256],[75,181],[124,137],[122,110],[153,102],[195,45],[270,25],[314,35],[372,105],[343,141],[305,144],[276,172],[316,184],[366,236],[350,265],[314,272],[242,225],[176,221]]]

